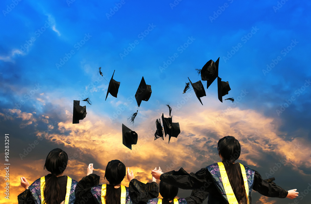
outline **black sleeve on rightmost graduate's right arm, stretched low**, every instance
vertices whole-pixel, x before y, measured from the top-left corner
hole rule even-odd
[[[253,189],[267,197],[285,198],[288,194],[286,190],[277,186],[274,182],[269,183],[261,178],[261,175],[255,171]]]

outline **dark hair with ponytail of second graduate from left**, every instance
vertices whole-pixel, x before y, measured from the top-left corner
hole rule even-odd
[[[114,186],[121,183],[126,174],[125,165],[119,160],[111,160],[108,162],[104,178],[109,181],[111,185],[110,188],[107,188],[106,192],[106,203],[107,204],[116,204],[120,203],[120,196],[118,195],[118,189],[115,189]]]

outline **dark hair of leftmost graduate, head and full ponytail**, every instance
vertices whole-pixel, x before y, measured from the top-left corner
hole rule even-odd
[[[59,204],[62,202],[60,198],[60,186],[57,182],[56,175],[64,172],[68,165],[68,155],[65,151],[56,148],[49,152],[46,157],[44,168],[51,172],[52,176],[45,181],[44,201],[46,204]]]

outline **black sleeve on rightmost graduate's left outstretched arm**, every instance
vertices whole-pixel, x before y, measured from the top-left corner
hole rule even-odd
[[[202,168],[195,174],[188,174],[183,168],[180,168],[178,171],[170,171],[161,174],[160,180],[181,189],[197,189],[204,187],[204,189],[207,190],[212,183],[211,175],[206,168]]]

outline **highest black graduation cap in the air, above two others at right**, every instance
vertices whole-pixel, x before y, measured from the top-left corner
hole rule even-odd
[[[216,62],[210,60],[203,66],[201,70],[201,80],[207,81],[207,89],[218,76],[218,64],[219,58],[216,60]]]

